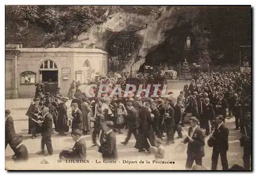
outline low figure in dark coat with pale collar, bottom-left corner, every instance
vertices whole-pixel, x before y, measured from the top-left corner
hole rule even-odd
[[[13,157],[14,162],[27,161],[29,158],[28,149],[22,142],[22,136],[14,137],[13,144],[16,148],[15,156]]]

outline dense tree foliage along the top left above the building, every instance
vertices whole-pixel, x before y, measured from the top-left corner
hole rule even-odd
[[[82,32],[106,21],[111,13],[159,13],[158,6],[6,6],[6,42],[42,47],[75,41]],[[30,35],[29,35],[30,34]],[[32,34],[36,34],[32,36]],[[30,38],[35,38],[31,41]]]

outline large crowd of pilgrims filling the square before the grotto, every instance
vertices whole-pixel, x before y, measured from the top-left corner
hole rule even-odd
[[[244,168],[249,169],[251,124],[248,116],[251,113],[251,74],[242,72],[199,73],[189,85],[184,86],[178,97],[175,97],[172,92],[168,93],[168,97],[161,96],[164,81],[165,78],[161,73],[155,77],[141,73],[123,74],[115,78],[97,76],[87,83],[98,85],[98,88],[94,88],[95,96],[87,97],[85,93],[79,91],[78,87],[81,83],[74,80],[71,84],[69,98],[61,95],[60,88],[56,93],[50,94],[45,92],[44,84],[36,84],[35,98],[26,114],[29,116],[29,134],[34,139],[40,133],[41,127],[35,121],[44,121],[44,113],[41,111],[47,107],[52,116],[55,132],[58,132],[60,136],[66,136],[71,127],[71,135],[76,141],[74,146],[76,149],[63,150],[60,154],[61,159],[86,159],[86,146],[81,138],[82,135],[90,135],[91,130],[93,130],[92,146],[99,147],[103,159],[117,159],[115,133],[123,134],[124,128],[128,129],[128,132],[126,139],[121,142],[122,145],[126,145],[133,134],[136,139],[134,147],[139,152],[147,151],[149,154],[153,153],[157,159],[163,159],[162,143],[174,144],[175,140],[184,138],[182,130],[184,130],[185,117],[191,113],[192,116],[189,118],[191,126],[188,133],[185,133],[185,140],[181,141],[181,143],[189,142],[190,144],[186,168],[190,169],[194,160],[197,165],[202,166],[204,137],[209,136],[208,145],[214,147],[212,169],[217,168],[219,154],[223,169],[227,169],[227,149],[223,153],[219,147],[228,143],[225,138],[224,140],[222,137],[218,138],[217,130],[220,124],[224,125],[225,121],[235,117],[234,129],[240,129],[243,135],[240,141],[244,146]],[[98,96],[100,84],[109,84],[110,91]],[[129,93],[127,97],[111,96],[117,84],[124,88],[122,95],[126,84],[134,84],[137,88],[139,84],[143,84],[144,88],[147,84],[161,84],[161,86],[157,93],[158,97],[154,98],[145,97],[145,92],[137,96],[138,91]],[[150,89],[149,94],[153,95],[153,92],[154,89]],[[72,118],[68,116],[66,105],[68,100],[72,100]],[[195,126],[200,129],[198,136],[190,135],[193,132],[196,133]],[[200,138],[203,144],[197,144],[195,150],[191,149],[202,129],[206,130],[202,132],[203,139]],[[176,132],[178,137],[175,139]],[[100,144],[96,141],[97,136]],[[166,139],[164,139],[165,136]],[[156,149],[151,149],[152,147]],[[195,154],[199,157],[195,157]]]

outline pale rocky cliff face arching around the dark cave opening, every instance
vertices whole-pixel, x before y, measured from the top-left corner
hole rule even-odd
[[[120,32],[133,33],[139,38],[139,46],[131,53],[122,71],[138,71],[145,62],[146,55],[164,41],[165,32],[171,32],[174,26],[193,20],[197,14],[195,7],[161,7],[158,14],[148,16],[124,12],[109,14],[106,11],[108,17],[105,23],[95,25],[88,32],[80,34],[77,42],[64,43],[61,47],[81,47],[83,42],[86,47],[94,44],[96,48],[106,50],[108,40],[118,37]]]

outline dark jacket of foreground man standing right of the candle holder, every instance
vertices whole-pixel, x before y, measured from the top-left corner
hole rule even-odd
[[[214,139],[214,149],[217,148],[218,150],[227,151],[228,150],[228,135],[229,130],[224,125],[224,123],[220,126],[219,129],[215,129],[214,134],[212,135]]]

